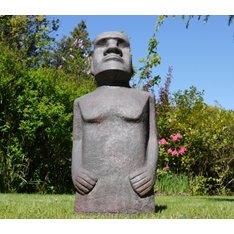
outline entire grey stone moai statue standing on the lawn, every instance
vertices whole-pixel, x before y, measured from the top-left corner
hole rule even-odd
[[[154,95],[129,86],[128,38],[94,40],[97,89],[74,102],[72,180],[76,213],[153,213],[158,157]]]

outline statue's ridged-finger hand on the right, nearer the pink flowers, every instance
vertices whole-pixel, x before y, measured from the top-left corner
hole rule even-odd
[[[140,196],[145,196],[154,186],[155,172],[143,167],[130,175],[133,190]]]

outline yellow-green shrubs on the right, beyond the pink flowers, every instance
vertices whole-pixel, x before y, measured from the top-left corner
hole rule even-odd
[[[183,135],[187,151],[179,170],[193,178],[194,194],[233,192],[234,112],[208,106],[202,96],[195,87],[176,92],[170,111],[158,114],[159,136]]]

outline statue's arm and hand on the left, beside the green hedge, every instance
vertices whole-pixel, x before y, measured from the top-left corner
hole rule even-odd
[[[72,181],[78,193],[85,195],[95,186],[97,179],[82,166],[82,116],[78,99],[74,102]]]

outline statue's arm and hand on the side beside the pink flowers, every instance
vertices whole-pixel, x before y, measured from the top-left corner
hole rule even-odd
[[[155,170],[158,158],[158,140],[155,118],[154,95],[149,96],[149,139],[146,150],[145,165],[130,175],[133,190],[140,196],[146,196],[152,191],[155,183]]]

